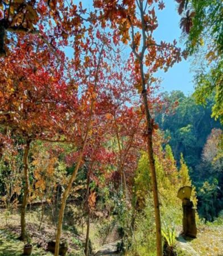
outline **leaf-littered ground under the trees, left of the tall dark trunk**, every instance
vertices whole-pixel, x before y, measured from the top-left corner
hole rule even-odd
[[[46,212],[42,228],[39,230],[40,216],[40,209],[27,210],[27,230],[29,230],[34,245],[32,255],[52,255],[46,252],[46,248],[47,242],[55,239],[56,226],[53,225],[50,218],[51,214]],[[84,256],[86,226],[84,225],[82,229],[81,225],[72,225],[69,221],[71,221],[71,219],[64,218],[65,226],[62,237],[62,239],[64,238],[68,241],[69,250],[67,255]],[[116,240],[118,240],[117,226],[112,225],[109,234],[104,237],[102,237],[101,234],[100,237],[98,236],[100,222],[102,221],[92,222],[90,224],[90,241],[93,247],[93,254],[117,255],[111,254],[116,250]],[[6,214],[6,211],[3,209],[0,210],[0,256],[17,256],[22,254],[24,243],[18,240],[19,233],[20,216],[18,210],[14,210],[10,214]],[[103,247],[104,243],[106,244],[105,247]],[[106,254],[107,249],[110,250],[110,254]]]

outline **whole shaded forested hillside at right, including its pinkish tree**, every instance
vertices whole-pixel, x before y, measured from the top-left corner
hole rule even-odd
[[[218,146],[222,126],[211,117],[213,97],[205,106],[180,91],[164,93],[162,100],[164,106],[156,113],[156,121],[178,165],[180,154],[184,156],[196,187],[200,216],[213,221],[223,207],[222,149]]]

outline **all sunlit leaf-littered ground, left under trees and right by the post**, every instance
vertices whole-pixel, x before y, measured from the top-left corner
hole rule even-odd
[[[44,218],[42,230],[38,230],[39,215],[36,211],[27,212],[27,228],[30,230],[32,242],[34,243],[33,256],[52,255],[47,253],[46,249],[47,241],[52,240],[55,237],[55,226],[49,224],[47,217]],[[91,225],[90,238],[94,244],[94,255],[106,256],[113,255],[115,253],[116,245],[118,242],[117,226],[114,226],[110,230],[110,234],[105,239],[105,244],[102,245],[100,240],[96,236],[96,225]],[[20,242],[17,238],[19,236],[19,214],[10,214],[7,217],[4,211],[0,212],[0,256],[18,256],[22,254],[24,243]],[[79,233],[80,230],[79,230]],[[65,230],[64,237],[67,238],[69,243],[68,256],[83,256],[83,243],[85,238],[85,232],[77,236],[71,230]],[[185,240],[179,236],[177,238],[177,248],[179,249],[180,256],[223,256],[223,225],[209,224],[198,226],[197,238],[194,240]]]

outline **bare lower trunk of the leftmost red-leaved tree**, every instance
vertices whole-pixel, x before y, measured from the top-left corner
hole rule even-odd
[[[28,180],[28,151],[30,150],[30,143],[31,140],[28,139],[26,142],[26,147],[24,148],[23,154],[23,173],[24,173],[24,195],[21,207],[21,217],[20,217],[20,224],[21,224],[21,233],[20,233],[20,240],[24,241],[26,239],[26,208],[27,208],[27,201],[28,201],[28,190],[29,190],[29,180]]]

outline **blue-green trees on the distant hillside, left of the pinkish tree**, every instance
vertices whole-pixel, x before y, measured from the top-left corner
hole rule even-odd
[[[201,162],[201,153],[211,130],[221,127],[219,121],[210,117],[213,98],[207,99],[205,107],[197,105],[195,98],[186,97],[180,91],[164,93],[163,100],[166,107],[156,114],[156,122],[170,140],[177,164],[180,164],[180,154],[183,153],[188,167],[195,168]]]

